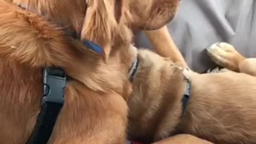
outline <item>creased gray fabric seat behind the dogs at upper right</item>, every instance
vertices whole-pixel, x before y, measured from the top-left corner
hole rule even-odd
[[[192,70],[214,67],[205,48],[216,42],[233,44],[246,57],[256,57],[255,0],[182,0],[168,24],[174,42]],[[136,46],[152,48],[146,36],[136,34]]]

